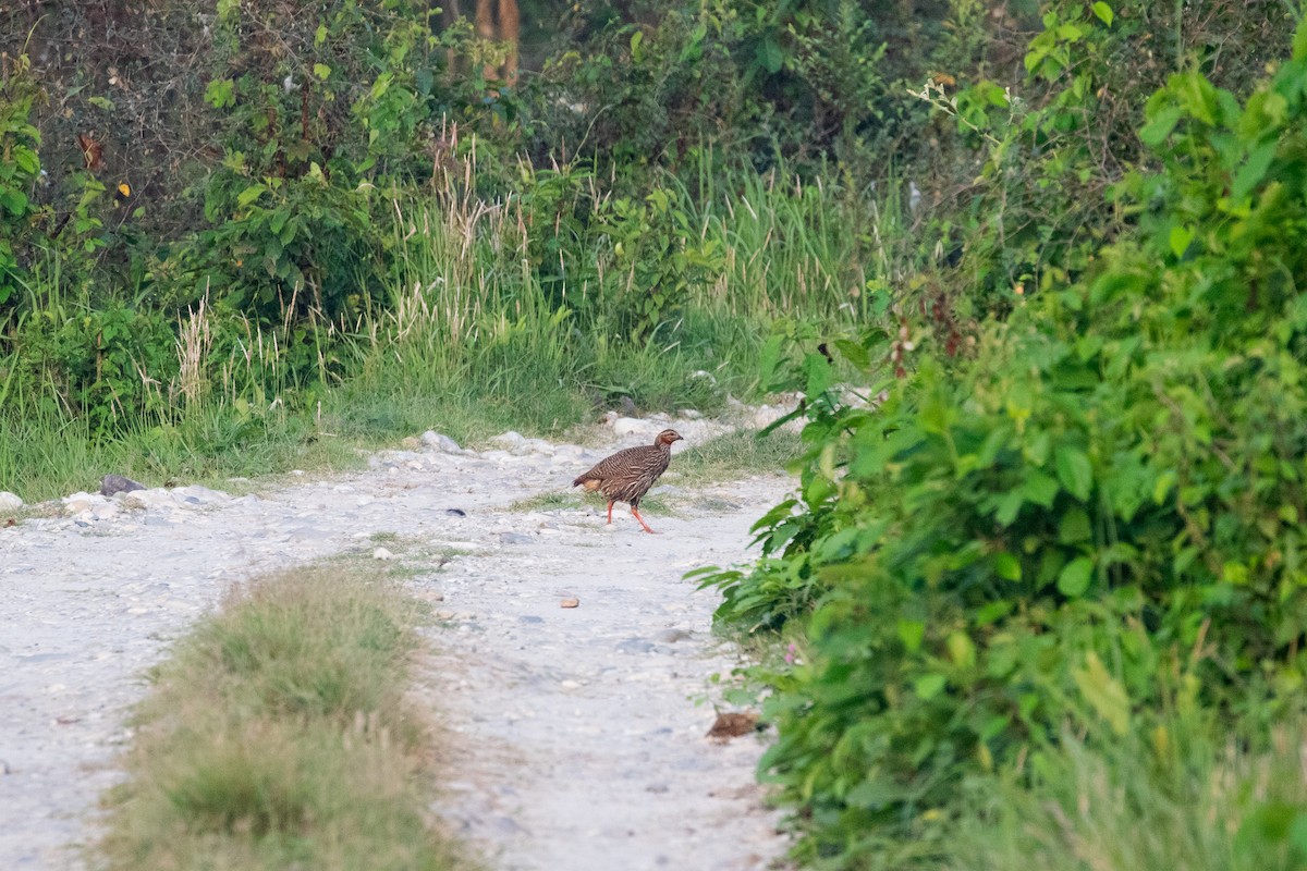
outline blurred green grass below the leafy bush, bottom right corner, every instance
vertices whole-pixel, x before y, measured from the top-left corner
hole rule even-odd
[[[1249,750],[1175,727],[1107,747],[1073,736],[968,808],[950,871],[1290,871],[1307,867],[1307,731],[1294,721]]]

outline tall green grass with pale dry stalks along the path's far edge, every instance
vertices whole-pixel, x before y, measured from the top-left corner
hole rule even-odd
[[[433,427],[473,441],[510,427],[557,434],[621,397],[642,411],[711,414],[728,394],[759,397],[759,350],[776,319],[830,329],[864,319],[868,287],[893,282],[906,256],[885,243],[902,235],[894,197],[779,171],[727,172],[694,191],[667,175],[674,209],[723,256],[634,341],[621,326],[634,291],[609,240],[578,218],[608,193],[576,168],[523,163],[518,189],[480,195],[476,149],[452,141],[465,155],[389,204],[388,298],[348,321],[310,323],[312,360],[303,324],[260,324],[208,296],[169,321],[142,308],[144,291],[93,295],[58,259],[34,270],[0,328],[0,490],[31,501],[110,471],[163,483],[339,467],[353,447]],[[78,319],[106,307],[175,342],[159,359],[133,356],[140,407],[111,397],[108,427],[72,398],[65,358],[76,354],[31,340],[38,323],[76,337]]]

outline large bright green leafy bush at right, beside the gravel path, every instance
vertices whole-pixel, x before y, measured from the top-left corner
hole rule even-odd
[[[966,787],[1068,727],[1163,752],[1168,717],[1255,742],[1300,706],[1307,29],[1243,98],[1172,74],[1138,138],[1110,189],[1128,222],[1078,281],[1017,286],[962,356],[908,326],[831,342],[878,407],[838,401],[822,354],[788,376],[801,498],[759,522],[763,563],[710,582],[723,619],[800,622],[765,765],[809,858],[946,854]]]

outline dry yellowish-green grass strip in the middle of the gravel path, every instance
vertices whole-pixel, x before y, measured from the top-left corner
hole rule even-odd
[[[91,864],[473,867],[426,811],[430,729],[404,696],[420,609],[357,564],[234,592],[156,670]]]

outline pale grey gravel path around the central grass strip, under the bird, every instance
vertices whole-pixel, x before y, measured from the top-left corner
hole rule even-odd
[[[379,543],[444,563],[413,581],[440,620],[416,691],[451,744],[435,810],[491,868],[766,867],[786,844],[753,782],[762,742],[704,738],[707,678],[735,662],[710,632],[716,597],[681,575],[741,559],[788,482],[669,486],[676,516],[648,517],[660,535],[622,508],[612,528],[595,509],[510,508],[667,423],[618,420],[597,449],[429,434],[263,498],[76,495],[0,529],[0,868],[82,867],[144,674],[233,581]],[[720,431],[674,426],[690,444]]]

